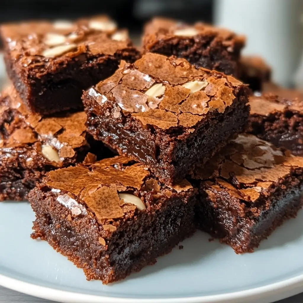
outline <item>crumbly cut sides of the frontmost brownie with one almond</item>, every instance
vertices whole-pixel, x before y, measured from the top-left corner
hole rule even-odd
[[[101,225],[95,216],[72,218],[71,211],[56,202],[51,191],[39,188],[31,191],[29,201],[36,215],[32,238],[48,241],[78,268],[83,268],[88,280],[99,279],[103,284],[155,264],[158,256],[170,252],[195,231],[195,197],[175,195],[163,201],[159,210],[138,212],[135,222],[124,220],[107,241],[105,250],[98,241]],[[87,246],[88,251],[83,249]]]

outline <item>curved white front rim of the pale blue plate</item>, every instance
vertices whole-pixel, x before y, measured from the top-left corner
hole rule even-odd
[[[243,291],[181,298],[120,298],[102,295],[89,295],[40,286],[18,280],[16,278],[7,277],[2,274],[0,274],[0,285],[26,295],[32,295],[34,297],[64,303],[244,303],[254,302],[256,299],[258,299],[259,302],[272,302],[301,293],[303,291],[303,274],[283,281],[256,288],[250,288]]]

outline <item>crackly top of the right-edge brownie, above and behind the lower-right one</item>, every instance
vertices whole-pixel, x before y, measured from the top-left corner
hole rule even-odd
[[[303,101],[295,98],[292,100],[281,98],[274,93],[249,97],[250,114],[268,116],[278,112],[293,111],[303,114]]]

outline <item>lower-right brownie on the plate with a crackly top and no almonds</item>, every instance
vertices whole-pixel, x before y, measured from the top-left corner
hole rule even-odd
[[[241,134],[207,165],[201,180],[198,226],[251,252],[303,204],[303,158],[254,135]]]

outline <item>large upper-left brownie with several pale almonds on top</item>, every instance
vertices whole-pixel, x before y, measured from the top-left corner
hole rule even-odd
[[[9,78],[40,114],[81,108],[83,89],[112,75],[121,59],[138,58],[127,32],[105,16],[4,24],[0,34]]]

